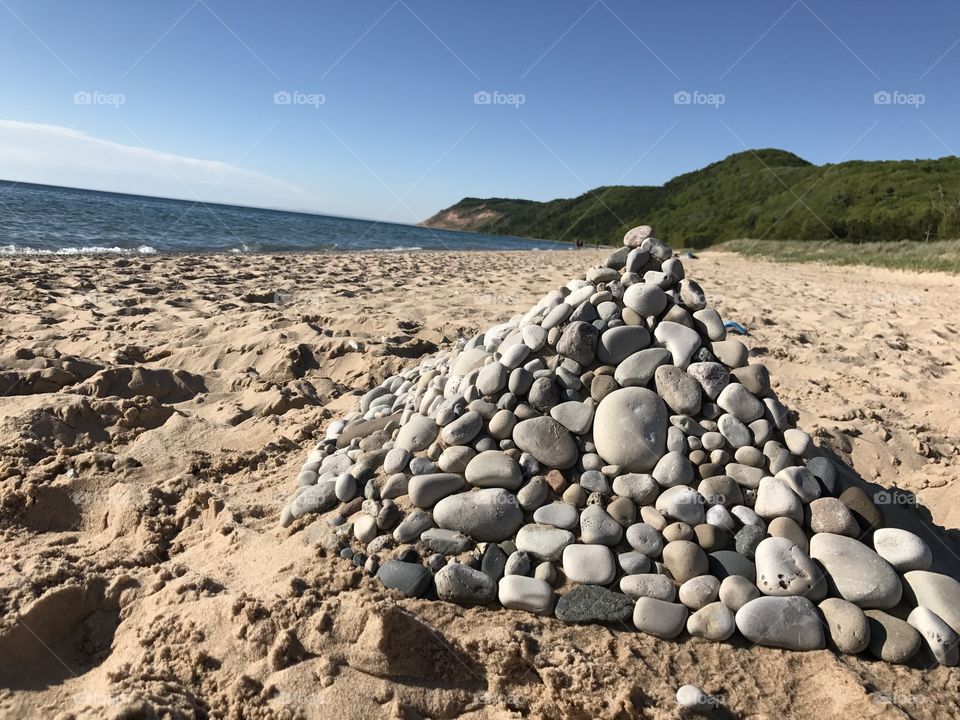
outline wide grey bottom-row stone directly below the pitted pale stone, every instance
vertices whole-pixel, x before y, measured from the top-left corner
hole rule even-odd
[[[750,642],[786,650],[820,650],[826,644],[816,606],[805,597],[760,597],[741,607],[737,629]]]

